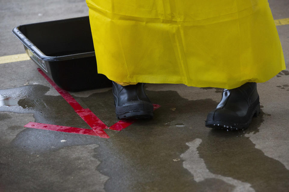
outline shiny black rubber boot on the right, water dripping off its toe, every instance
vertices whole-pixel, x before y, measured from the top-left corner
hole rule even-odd
[[[241,87],[224,89],[222,100],[207,116],[206,127],[218,129],[245,129],[253,116],[260,113],[257,84],[248,82]]]

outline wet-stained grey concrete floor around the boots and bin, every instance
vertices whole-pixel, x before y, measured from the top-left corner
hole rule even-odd
[[[269,3],[274,19],[289,17],[288,0]],[[0,1],[0,56],[24,53],[15,26],[86,15],[84,0]],[[289,25],[277,29],[288,67]],[[289,191],[288,70],[258,84],[261,115],[246,130],[204,126],[221,89],[148,84],[161,105],[154,119],[107,130],[105,139],[23,127],[90,129],[36,68],[31,60],[0,64],[0,95],[13,105],[0,106],[1,192]],[[118,121],[111,92],[70,94],[110,126]]]

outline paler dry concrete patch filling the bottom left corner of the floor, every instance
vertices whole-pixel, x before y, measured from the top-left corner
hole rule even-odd
[[[104,192],[104,183],[108,177],[96,170],[100,163],[93,158],[97,147],[96,144],[71,146],[45,154],[27,154],[13,149],[2,156],[4,154],[1,152],[0,189]],[[18,155],[15,156],[14,153]],[[59,161],[60,158],[62,161]]]

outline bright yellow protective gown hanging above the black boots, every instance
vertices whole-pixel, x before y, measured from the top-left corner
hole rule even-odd
[[[267,0],[86,0],[98,73],[236,88],[285,69]]]

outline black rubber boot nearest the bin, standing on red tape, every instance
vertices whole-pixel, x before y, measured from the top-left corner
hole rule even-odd
[[[151,119],[154,107],[144,92],[144,83],[122,86],[113,82],[117,119]]]

